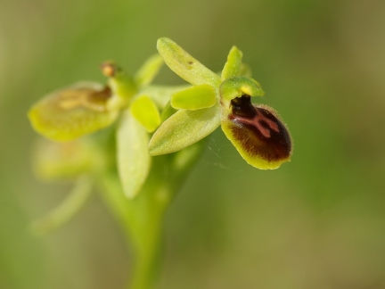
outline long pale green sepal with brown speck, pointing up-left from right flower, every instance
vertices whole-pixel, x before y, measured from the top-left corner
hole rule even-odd
[[[158,39],[158,51],[168,67],[179,77],[193,85],[209,84],[218,87],[221,79],[216,73],[198,62],[171,39]]]

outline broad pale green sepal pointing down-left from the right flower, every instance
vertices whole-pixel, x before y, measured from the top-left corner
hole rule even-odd
[[[212,133],[221,119],[220,105],[197,111],[180,110],[162,123],[149,143],[149,153],[174,153]]]

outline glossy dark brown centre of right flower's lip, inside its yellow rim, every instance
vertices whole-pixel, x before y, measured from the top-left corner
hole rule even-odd
[[[252,105],[249,95],[237,97],[231,104],[231,129],[244,151],[272,162],[290,158],[289,131],[271,108]]]

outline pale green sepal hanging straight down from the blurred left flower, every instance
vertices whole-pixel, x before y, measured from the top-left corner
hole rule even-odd
[[[126,111],[117,134],[117,157],[119,177],[127,198],[139,192],[151,167],[147,152],[150,136],[135,117]]]

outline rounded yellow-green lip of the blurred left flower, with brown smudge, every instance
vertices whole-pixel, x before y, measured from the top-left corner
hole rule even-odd
[[[118,117],[110,101],[109,87],[82,82],[45,96],[29,110],[29,120],[42,136],[69,141],[110,126]]]

